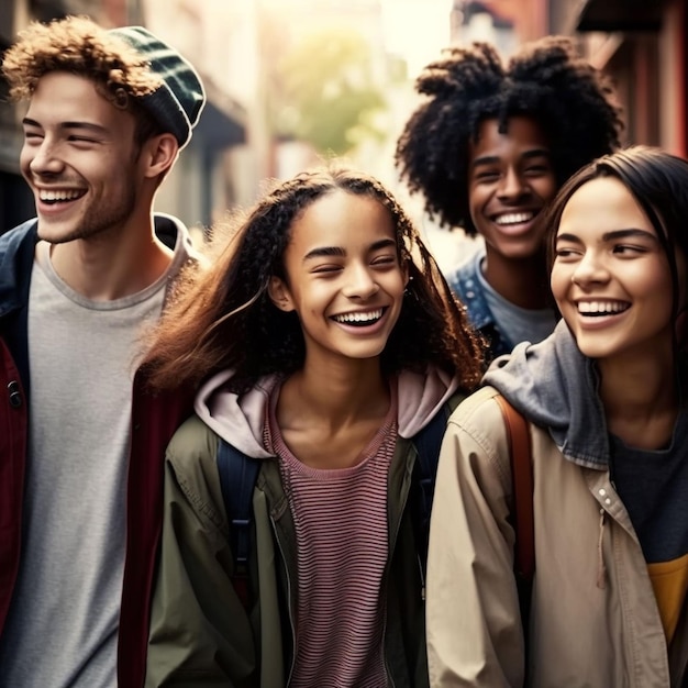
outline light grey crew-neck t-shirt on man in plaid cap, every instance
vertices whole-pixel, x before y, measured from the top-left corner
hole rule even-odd
[[[132,380],[169,270],[90,301],[36,247],[29,298],[30,437],[23,552],[0,643],[0,686],[116,686]],[[138,354],[136,354],[138,352]]]

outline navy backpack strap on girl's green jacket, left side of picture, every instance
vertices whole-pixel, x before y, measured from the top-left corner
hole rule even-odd
[[[230,526],[230,546],[234,557],[233,584],[244,608],[248,608],[248,556],[253,523],[253,490],[260,470],[260,459],[247,456],[218,437],[218,474]]]

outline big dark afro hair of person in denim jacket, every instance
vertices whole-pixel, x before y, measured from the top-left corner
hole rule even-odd
[[[546,36],[525,44],[507,66],[488,43],[443,51],[415,84],[426,100],[413,112],[395,162],[412,193],[442,226],[477,230],[468,209],[469,144],[484,120],[533,118],[547,136],[558,186],[618,148],[621,109],[609,78],[577,56],[573,42]]]

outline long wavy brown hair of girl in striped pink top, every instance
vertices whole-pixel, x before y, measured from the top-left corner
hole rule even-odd
[[[232,388],[249,389],[268,374],[303,366],[306,345],[298,315],[282,312],[268,296],[270,277],[285,278],[284,254],[293,221],[335,190],[367,196],[390,213],[400,259],[410,280],[399,320],[381,354],[386,374],[435,364],[458,374],[465,390],[482,370],[481,341],[391,193],[375,178],[335,160],[277,186],[247,214],[222,253],[177,288],[154,332],[145,362],[153,387],[198,385],[233,369]]]

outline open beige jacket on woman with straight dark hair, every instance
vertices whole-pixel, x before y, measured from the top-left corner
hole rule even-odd
[[[496,393],[485,387],[456,409],[440,457],[426,604],[434,687],[524,685],[509,453]],[[566,460],[547,431],[530,430],[536,573],[528,685],[680,686],[686,614],[669,658],[643,553],[609,473]]]

